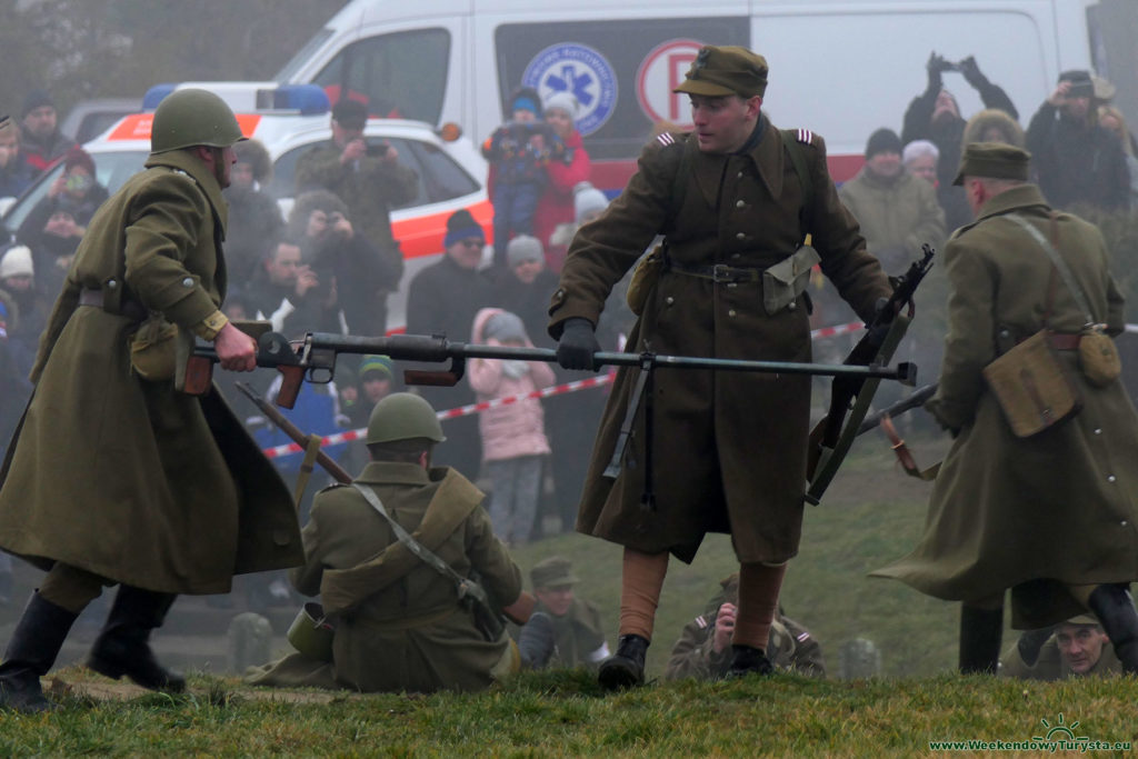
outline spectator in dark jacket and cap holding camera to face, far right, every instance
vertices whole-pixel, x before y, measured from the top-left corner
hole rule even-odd
[[[1098,123],[1097,107],[1090,72],[1063,72],[1028,125],[1039,189],[1056,208],[1130,207],[1130,170],[1122,141]]]

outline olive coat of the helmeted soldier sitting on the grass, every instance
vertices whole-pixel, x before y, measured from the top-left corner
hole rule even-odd
[[[429,551],[503,604],[521,593],[521,570],[494,537],[485,496],[457,471],[371,462],[356,479]],[[292,654],[251,674],[256,685],[363,692],[480,691],[509,655],[504,632],[487,641],[459,605],[454,580],[426,564],[353,487],[316,495],[304,528],[306,560],[291,571],[305,595],[321,594],[336,625],[332,662]]]

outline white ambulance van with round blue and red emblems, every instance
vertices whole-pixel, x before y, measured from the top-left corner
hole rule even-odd
[[[543,97],[569,90],[596,183],[618,189],[655,122],[687,125],[686,98],[671,88],[700,46],[742,44],[770,65],[772,119],[826,138],[841,181],[874,130],[900,131],[930,52],[975,56],[1026,124],[1061,71],[1112,77],[1114,61],[1112,79],[1132,77],[1136,9],[1135,0],[354,0],[277,80],[316,83],[333,101],[347,92],[374,116],[456,122],[476,142],[519,85]],[[959,74],[945,84],[965,115],[981,107]]]

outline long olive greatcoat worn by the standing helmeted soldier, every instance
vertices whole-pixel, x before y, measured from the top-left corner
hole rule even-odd
[[[41,338],[0,470],[0,547],[151,591],[226,593],[234,574],[304,560],[287,486],[216,388],[140,379],[137,322],[79,305],[82,288],[125,282],[189,341],[224,297],[216,179],[184,151],[146,166],[91,220]]]

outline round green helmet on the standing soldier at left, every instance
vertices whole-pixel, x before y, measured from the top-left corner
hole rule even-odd
[[[244,140],[237,117],[208,90],[175,90],[154,112],[150,151],[166,152],[196,145],[228,148]]]

